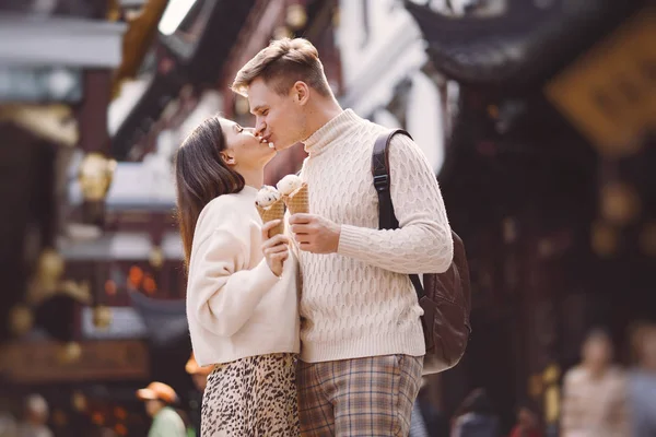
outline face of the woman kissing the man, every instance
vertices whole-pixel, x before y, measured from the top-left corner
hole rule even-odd
[[[221,129],[225,137],[223,160],[236,172],[262,169],[276,156],[276,150],[256,138],[253,128],[243,128],[232,120],[222,118]]]

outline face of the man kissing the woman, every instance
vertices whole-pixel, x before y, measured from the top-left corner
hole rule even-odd
[[[273,143],[277,150],[305,140],[305,105],[300,103],[294,86],[286,95],[280,95],[258,78],[248,86],[248,104],[256,117],[256,135]]]

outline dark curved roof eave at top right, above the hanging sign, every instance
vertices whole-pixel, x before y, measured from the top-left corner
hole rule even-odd
[[[641,0],[570,1],[551,5],[507,0],[495,16],[452,17],[406,1],[427,43],[427,54],[445,75],[472,85],[518,87],[548,78]]]

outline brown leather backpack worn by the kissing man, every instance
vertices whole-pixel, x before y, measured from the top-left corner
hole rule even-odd
[[[399,227],[389,192],[388,149],[395,134],[403,134],[412,139],[401,129],[382,133],[376,139],[372,156],[374,187],[378,193],[378,228],[380,229]],[[426,345],[424,375],[443,371],[458,364],[465,354],[471,333],[469,324],[471,293],[467,256],[460,237],[453,231],[452,236],[454,260],[446,272],[424,274],[423,285],[418,274],[410,274],[419,305],[424,310],[421,318]]]

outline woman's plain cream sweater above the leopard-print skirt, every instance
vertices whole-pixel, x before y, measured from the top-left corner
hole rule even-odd
[[[298,352],[297,261],[280,277],[262,256],[257,189],[220,196],[200,213],[194,233],[187,319],[201,366],[254,355]]]

